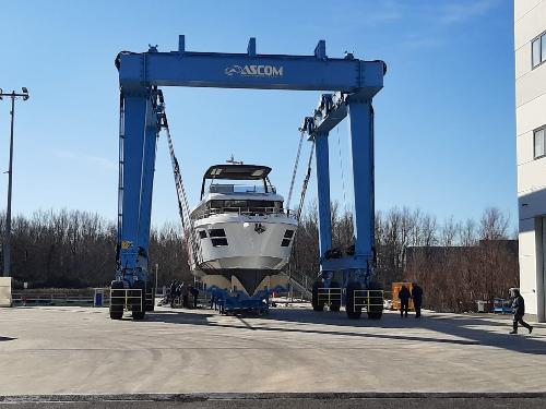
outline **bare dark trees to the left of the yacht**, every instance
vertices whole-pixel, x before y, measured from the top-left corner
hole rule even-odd
[[[3,240],[5,215],[0,214]],[[109,286],[116,272],[117,226],[81,210],[39,210],[12,220],[12,276],[16,286],[83,288]],[[2,243],[3,244],[3,243]],[[3,245],[2,245],[3,249]],[[3,265],[3,254],[2,258]],[[158,285],[192,280],[181,228],[165,224],[150,237],[150,266]]]

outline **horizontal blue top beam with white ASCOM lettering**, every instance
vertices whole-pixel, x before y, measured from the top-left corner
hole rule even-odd
[[[149,52],[120,52],[116,65],[123,89],[157,85],[341,91],[372,97],[383,86],[384,74],[382,61],[327,57],[324,41],[313,56],[259,55],[256,39],[246,53],[190,52],[183,36],[177,51],[151,47]]]

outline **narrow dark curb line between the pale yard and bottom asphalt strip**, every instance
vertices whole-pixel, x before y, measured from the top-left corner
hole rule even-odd
[[[24,402],[106,402],[106,401],[176,401],[207,400],[286,400],[286,399],[537,399],[546,392],[531,393],[193,393],[193,394],[120,394],[120,395],[7,395],[0,404]]]

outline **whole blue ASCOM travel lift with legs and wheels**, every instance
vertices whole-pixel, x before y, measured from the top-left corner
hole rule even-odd
[[[187,51],[185,36],[178,50],[122,51],[116,58],[120,84],[119,197],[117,270],[111,282],[110,317],[130,310],[135,320],[154,309],[149,268],[150,224],[155,152],[165,127],[159,86],[332,91],[324,94],[300,131],[314,143],[319,205],[320,275],[313,286],[313,309],[339,310],[347,316],[379,318],[382,291],[373,284],[373,96],[383,86],[383,61],[363,61],[352,53],[327,57],[320,40],[313,56],[259,55],[256,38],[246,53]],[[349,118],[354,180],[354,250],[332,249],[329,132]],[[178,190],[178,185],[177,185]],[[180,197],[180,195],[179,195]],[[186,210],[180,209],[180,213]],[[186,230],[186,234],[188,230]],[[190,234],[191,236],[191,234]],[[187,238],[188,240],[188,238]],[[191,237],[190,237],[191,241]],[[191,245],[190,253],[191,251]],[[190,254],[191,255],[191,254]]]

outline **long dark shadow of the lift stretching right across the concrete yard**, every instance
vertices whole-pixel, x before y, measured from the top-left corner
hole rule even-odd
[[[211,311],[211,310],[209,310]],[[363,314],[364,316],[364,314]],[[210,320],[219,315],[211,311],[203,313],[203,310],[192,312],[186,310],[179,312],[174,310],[165,312],[154,312],[147,315],[147,321],[165,322],[171,324],[185,325],[206,325],[222,328],[237,328],[242,330],[262,330],[262,332],[283,332],[300,334],[322,334],[340,335],[357,338],[377,338],[407,340],[413,342],[434,342],[443,345],[468,345],[468,346],[488,346],[502,348],[520,353],[546,354],[546,338],[529,336],[526,329],[521,329],[520,335],[508,335],[511,329],[511,321],[506,323],[490,320],[484,316],[462,316],[448,314],[434,314],[424,316],[420,320],[401,318],[397,314],[384,314],[382,320],[371,321],[365,317],[360,320],[347,320],[344,312],[321,312],[317,313],[307,309],[278,309],[272,310],[269,316],[252,317],[236,315],[240,324],[222,322],[222,320]],[[298,327],[284,326],[283,323],[304,324]],[[305,324],[313,324],[305,325]],[[505,327],[506,333],[499,334],[490,330],[490,327]],[[359,328],[355,332],[351,328]],[[385,334],[384,332],[363,332],[363,328],[376,329],[396,329],[395,334]],[[423,328],[430,330],[430,336],[404,335],[404,329]],[[451,337],[441,335],[435,336],[434,333],[441,333]]]

